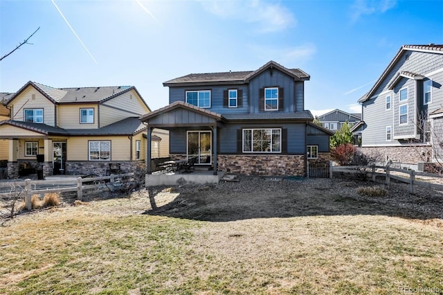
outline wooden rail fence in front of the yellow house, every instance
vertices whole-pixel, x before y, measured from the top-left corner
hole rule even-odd
[[[14,195],[16,193],[24,193],[25,204],[28,210],[32,209],[31,197],[34,194],[40,193],[64,193],[64,192],[77,192],[77,199],[82,201],[84,190],[91,188],[109,188],[109,190],[114,190],[117,186],[120,186],[124,179],[128,177],[133,177],[134,172],[125,173],[120,175],[109,175],[103,177],[77,177],[72,179],[54,179],[54,180],[31,180],[25,179],[24,181],[10,181],[2,182],[1,186],[4,188],[9,188],[9,193],[0,193],[5,197]],[[107,182],[109,180],[109,182]],[[93,183],[93,184],[85,184]],[[84,185],[85,184],[85,185]],[[70,186],[73,185],[73,186]],[[57,186],[57,187],[55,187]],[[62,186],[62,187],[61,187]],[[67,186],[67,187],[64,187]],[[37,187],[39,187],[37,189]],[[22,188],[17,191],[17,188]],[[34,188],[34,189],[33,189]],[[14,190],[16,190],[14,192]],[[12,193],[11,193],[12,192]]]

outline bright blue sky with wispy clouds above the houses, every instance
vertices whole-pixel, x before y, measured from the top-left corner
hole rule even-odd
[[[134,85],[152,110],[163,82],[253,71],[274,60],[311,75],[305,109],[359,112],[403,44],[443,44],[443,0],[0,0],[0,92]]]

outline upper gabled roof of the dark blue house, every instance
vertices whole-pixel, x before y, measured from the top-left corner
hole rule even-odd
[[[191,73],[180,78],[163,82],[163,86],[183,86],[188,84],[244,84],[267,69],[278,69],[297,81],[309,80],[310,76],[300,69],[287,69],[277,62],[270,61],[255,71],[237,71],[221,73]]]

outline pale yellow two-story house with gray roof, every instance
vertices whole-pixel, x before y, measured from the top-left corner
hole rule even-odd
[[[0,140],[8,141],[10,178],[36,168],[43,176],[104,175],[145,165],[147,127],[139,117],[151,110],[133,86],[53,88],[28,82],[6,107],[10,118],[0,122]],[[153,134],[151,157],[168,157],[168,132]]]

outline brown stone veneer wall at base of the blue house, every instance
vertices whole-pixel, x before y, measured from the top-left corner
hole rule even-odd
[[[239,175],[305,177],[302,155],[219,154],[218,170]]]

